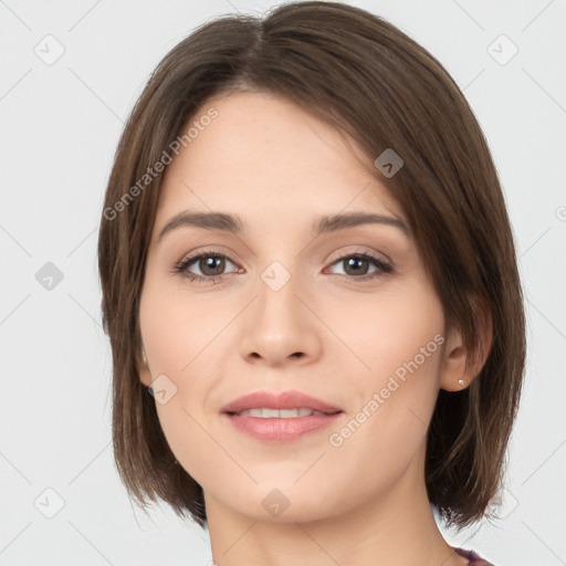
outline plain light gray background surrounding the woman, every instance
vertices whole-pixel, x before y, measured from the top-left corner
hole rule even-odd
[[[196,525],[163,507],[135,512],[115,471],[97,224],[124,120],[155,65],[207,19],[274,3],[0,0],[0,565],[211,557]],[[497,566],[566,564],[566,2],[352,3],[400,27],[464,90],[516,234],[528,365],[505,518],[447,536]],[[501,34],[518,48],[506,64]],[[57,42],[64,53],[48,65]],[[64,276],[51,290],[35,279],[46,262]]]

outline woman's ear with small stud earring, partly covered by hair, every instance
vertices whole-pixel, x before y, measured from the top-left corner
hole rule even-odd
[[[465,389],[481,373],[493,342],[491,310],[485,301],[476,301],[478,348],[468,352],[459,328],[448,332],[440,387],[447,391]]]

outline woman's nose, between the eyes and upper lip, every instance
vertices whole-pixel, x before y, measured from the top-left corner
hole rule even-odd
[[[291,275],[291,276],[290,276]],[[287,277],[290,279],[287,280]],[[300,276],[281,265],[259,277],[255,300],[245,310],[240,340],[242,357],[270,367],[311,364],[322,350],[321,323]]]

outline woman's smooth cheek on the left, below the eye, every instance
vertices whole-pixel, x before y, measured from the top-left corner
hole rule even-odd
[[[156,384],[157,379],[164,380],[168,390],[167,401],[156,402],[157,415],[175,457],[199,483],[206,481],[203,473],[218,467],[221,458],[207,434],[210,422],[206,401],[226,355],[219,334],[232,312],[233,304],[222,305],[221,301],[211,310],[210,301],[199,301],[195,293],[184,292],[180,284],[171,287],[150,276],[144,284],[142,338],[151,378]]]

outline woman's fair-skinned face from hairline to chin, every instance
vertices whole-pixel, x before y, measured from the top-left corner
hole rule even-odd
[[[218,115],[199,119],[211,106]],[[449,337],[399,206],[333,128],[282,98],[217,97],[195,120],[166,169],[140,302],[140,379],[155,380],[175,457],[207,509],[256,520],[316,520],[401,483],[421,490]],[[241,231],[193,213],[238,217]],[[378,221],[319,221],[355,213]],[[287,437],[292,419],[222,412],[287,390],[342,412],[293,419],[325,426]],[[272,436],[242,432],[242,419]]]

